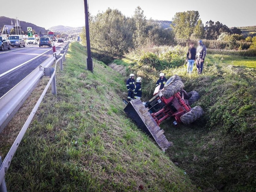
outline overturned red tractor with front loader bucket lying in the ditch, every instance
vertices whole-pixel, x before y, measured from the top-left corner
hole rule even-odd
[[[199,99],[199,94],[196,91],[187,94],[183,87],[181,78],[173,75],[162,90],[159,90],[160,85],[155,88],[154,96],[148,102],[143,104],[140,99],[134,99],[124,108],[124,112],[152,136],[163,151],[171,145],[159,126],[163,120],[175,117],[174,124],[188,125],[203,115],[200,106],[190,107]]]

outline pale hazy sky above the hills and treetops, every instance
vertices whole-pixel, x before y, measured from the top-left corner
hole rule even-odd
[[[255,0],[87,0],[87,2],[89,13],[93,16],[111,8],[118,9],[126,17],[132,17],[136,7],[140,6],[146,19],[171,21],[175,13],[193,10],[199,12],[204,25],[209,20],[219,21],[228,27],[256,25]],[[2,8],[0,16],[17,17],[21,21],[45,29],[58,25],[69,27],[85,25],[84,0],[41,2],[12,0],[5,5],[11,5],[11,9]]]

